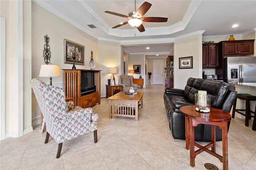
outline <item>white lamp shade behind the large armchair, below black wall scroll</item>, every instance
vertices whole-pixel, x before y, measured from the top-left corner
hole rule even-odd
[[[39,77],[60,77],[60,66],[51,64],[42,64]]]

